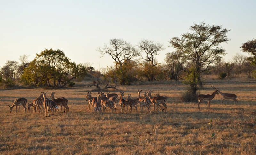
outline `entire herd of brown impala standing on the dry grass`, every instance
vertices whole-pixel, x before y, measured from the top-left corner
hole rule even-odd
[[[197,99],[198,99],[198,108],[200,109],[200,103],[202,101],[208,101],[208,108],[210,108],[210,101],[215,97],[215,95],[219,95],[219,93],[222,95],[222,102],[225,100],[225,99],[232,99],[234,100],[235,102],[238,102],[236,100],[237,96],[235,94],[228,94],[228,93],[222,93],[220,92],[219,89],[215,88],[214,86],[211,86],[213,89],[215,89],[215,91],[211,94],[211,95],[198,95]],[[165,113],[167,111],[167,106],[166,106],[166,97],[164,96],[157,96],[157,97],[152,97],[151,96],[151,93],[152,91],[149,91],[149,92],[145,92],[143,94],[143,96],[141,97],[140,96],[140,93],[142,92],[138,90],[138,97],[135,98],[135,99],[131,99],[131,95],[128,94],[128,96],[126,97],[126,100],[123,99],[124,98],[124,92],[120,92],[120,97],[118,98],[118,95],[115,94],[115,93],[107,93],[106,92],[106,95],[104,94],[105,92],[98,92],[98,97],[92,97],[92,93],[91,92],[88,92],[87,95],[85,96],[86,98],[86,101],[88,101],[89,103],[89,107],[88,107],[88,110],[90,109],[90,106],[91,108],[94,107],[94,112],[95,112],[95,117],[94,119],[96,118],[97,114],[101,113],[102,114],[102,117],[103,117],[103,114],[105,113],[105,108],[108,107],[112,110],[112,113],[113,113],[113,110],[115,110],[116,112],[116,103],[118,102],[119,100],[119,104],[121,106],[121,112],[122,113],[125,113],[125,106],[126,106],[126,109],[128,111],[128,106],[130,106],[130,112],[132,111],[132,107],[134,107],[136,109],[136,111],[138,112],[137,110],[137,105],[139,104],[140,105],[140,112],[142,113],[142,109],[144,107],[144,110],[146,110],[146,107],[148,109],[148,113],[150,112],[151,113],[151,103],[154,105],[154,112],[157,111],[158,112],[158,107],[161,108],[162,112],[164,111],[165,109]],[[61,97],[61,98],[54,98],[54,94],[55,92],[52,92],[51,94],[51,98],[52,100],[49,100],[47,97],[46,97],[46,93],[44,92],[41,92],[42,94],[37,97],[35,100],[33,100],[33,103],[32,104],[29,104],[28,103],[28,110],[30,110],[30,107],[33,106],[33,111],[36,113],[36,109],[38,108],[39,109],[39,112],[41,111],[41,108],[40,106],[42,107],[42,109],[45,109],[45,116],[47,117],[47,114],[48,116],[50,117],[50,111],[52,111],[52,115],[54,114],[54,111],[57,110],[60,114],[60,111],[59,111],[59,107],[61,107],[61,110],[62,110],[62,106],[64,106],[64,112],[66,110],[67,113],[69,113],[69,107],[68,107],[68,100],[65,99],[64,97]],[[148,98],[149,97],[149,98]],[[118,99],[117,99],[118,98]],[[225,102],[225,101],[224,101]],[[9,106],[10,107],[10,113],[12,112],[12,108],[16,106],[16,112],[17,112],[17,107],[19,106],[19,110],[20,110],[20,106],[22,105],[24,108],[25,108],[25,113],[26,113],[26,103],[27,103],[27,99],[25,98],[18,98],[16,100],[14,100],[14,103],[12,106]],[[226,102],[227,103],[227,102]],[[162,106],[163,108],[162,108]],[[103,110],[103,112],[102,112]],[[43,110],[42,110],[43,111]],[[104,119],[104,117],[103,117]]]

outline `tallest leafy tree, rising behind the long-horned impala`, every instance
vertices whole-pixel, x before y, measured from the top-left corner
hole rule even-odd
[[[204,22],[194,24],[189,30],[190,32],[182,34],[181,38],[172,38],[169,43],[171,47],[175,48],[175,54],[180,54],[194,68],[195,77],[198,78],[197,81],[202,86],[200,74],[212,69],[212,63],[220,60],[221,55],[225,55],[225,50],[221,48],[220,44],[228,42],[226,33],[229,30],[222,29],[222,26],[218,25],[205,25]],[[193,90],[196,89],[193,88]],[[195,92],[193,91],[193,93]]]

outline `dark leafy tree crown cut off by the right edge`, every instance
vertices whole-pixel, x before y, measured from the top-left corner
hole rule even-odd
[[[242,52],[246,52],[252,55],[248,58],[248,60],[250,60],[254,65],[256,65],[256,39],[247,41],[246,43],[242,44],[240,48]]]

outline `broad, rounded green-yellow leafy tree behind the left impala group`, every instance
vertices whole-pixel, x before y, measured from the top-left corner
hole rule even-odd
[[[70,62],[63,51],[45,49],[24,69],[22,81],[24,85],[64,87],[74,79],[81,80],[86,73],[84,65]]]

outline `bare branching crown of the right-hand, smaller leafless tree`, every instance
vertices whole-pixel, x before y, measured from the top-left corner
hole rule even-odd
[[[155,43],[155,41],[150,41],[147,39],[142,39],[138,45],[140,53],[146,53],[146,57],[143,57],[141,55],[142,59],[149,61],[151,65],[154,65],[154,56],[159,55],[159,51],[164,50],[165,48],[163,47],[164,44],[160,44],[159,42]]]

